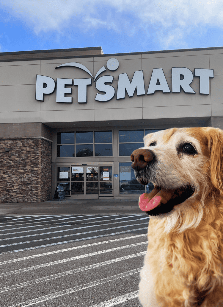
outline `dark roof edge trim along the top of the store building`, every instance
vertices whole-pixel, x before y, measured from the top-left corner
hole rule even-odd
[[[98,50],[101,47],[89,47],[89,48],[71,48],[71,49],[48,49],[48,50],[32,50],[32,51],[17,51],[17,52],[0,52],[2,55],[13,55],[13,54],[30,54],[30,53],[47,53],[47,52],[67,52],[67,51],[84,51],[84,50]],[[84,55],[84,56],[53,56],[53,57],[42,57],[42,58],[27,58],[27,59],[7,59],[0,60],[0,62],[14,62],[14,61],[33,61],[33,60],[55,60],[55,59],[74,59],[74,58],[89,58],[89,57],[104,57],[104,56],[125,56],[134,54],[152,54],[152,53],[168,53],[168,52],[184,52],[184,51],[199,51],[199,50],[214,50],[223,49],[222,47],[206,47],[206,48],[190,48],[190,49],[171,49],[171,50],[157,50],[157,51],[142,51],[142,52],[125,52],[125,53],[106,53],[106,54],[95,54],[95,55]]]

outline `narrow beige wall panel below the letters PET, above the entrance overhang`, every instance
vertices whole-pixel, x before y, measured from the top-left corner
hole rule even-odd
[[[94,120],[93,110],[41,111],[40,122],[80,122]]]

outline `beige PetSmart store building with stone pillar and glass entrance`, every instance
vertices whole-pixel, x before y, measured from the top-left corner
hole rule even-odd
[[[223,47],[0,53],[0,202],[138,199],[130,155],[172,127],[223,129]]]

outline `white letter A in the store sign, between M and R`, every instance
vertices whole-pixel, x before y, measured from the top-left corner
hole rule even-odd
[[[159,82],[159,84],[157,84],[157,81]],[[170,89],[168,87],[162,68],[153,68],[147,95],[154,94],[155,91],[163,91],[163,93],[170,93]]]

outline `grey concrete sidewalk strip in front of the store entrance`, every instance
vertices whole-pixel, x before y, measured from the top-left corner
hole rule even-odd
[[[1,215],[146,214],[136,200],[78,199],[42,203],[0,203]],[[146,214],[147,215],[147,214]]]

